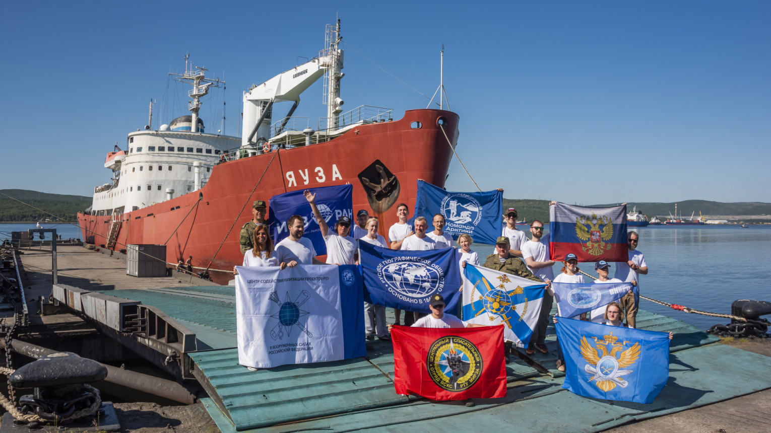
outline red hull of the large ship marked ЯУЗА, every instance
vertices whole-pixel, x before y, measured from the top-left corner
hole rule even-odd
[[[439,119],[444,121],[447,138],[437,124]],[[458,120],[454,112],[409,110],[400,120],[357,126],[327,143],[218,164],[200,190],[123,213],[113,249],[136,243],[165,244],[167,263],[193,256],[197,270],[209,269],[212,280],[224,283],[232,274],[217,270],[232,270],[243,261],[238,242],[241,227],[251,220],[254,200],[345,183],[354,186],[354,212],[366,209],[370,216],[379,217],[380,233],[387,237],[397,220],[396,204],[407,203],[412,209],[417,179],[444,185],[453,156],[447,139],[456,145]],[[417,129],[412,128],[415,122],[420,125]],[[379,191],[367,186],[381,182],[384,188]],[[106,245],[112,220],[79,213],[83,239]]]

